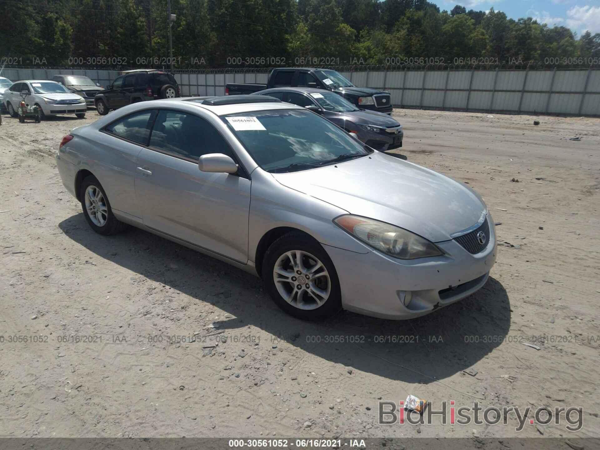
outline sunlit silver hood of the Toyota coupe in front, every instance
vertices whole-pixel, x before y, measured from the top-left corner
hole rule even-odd
[[[476,224],[485,211],[479,194],[447,176],[390,155],[319,169],[272,173],[278,182],[345,209],[410,230],[431,242]]]

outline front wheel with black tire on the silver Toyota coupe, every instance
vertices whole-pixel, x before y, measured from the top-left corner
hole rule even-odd
[[[282,310],[302,320],[323,320],[341,310],[340,280],[319,242],[291,232],[266,251],[262,278]]]

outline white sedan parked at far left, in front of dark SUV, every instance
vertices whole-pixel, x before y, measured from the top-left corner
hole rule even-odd
[[[88,107],[81,95],[73,94],[65,86],[48,80],[25,80],[13,83],[4,91],[4,106],[12,117],[17,117],[17,107],[25,98],[28,106],[37,105],[41,119],[59,114],[74,114],[83,119]]]

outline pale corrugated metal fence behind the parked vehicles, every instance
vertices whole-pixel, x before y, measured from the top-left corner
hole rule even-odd
[[[223,95],[226,83],[266,83],[270,69],[176,70],[187,95]],[[479,112],[600,116],[600,69],[544,70],[340,70],[356,86],[392,94],[396,107]],[[52,79],[56,74],[90,77],[102,86],[118,76],[109,70],[5,69],[13,81]]]

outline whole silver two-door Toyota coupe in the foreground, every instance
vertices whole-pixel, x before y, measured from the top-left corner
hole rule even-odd
[[[259,275],[300,319],[422,316],[496,259],[471,188],[262,95],[131,104],[75,128],[56,160],[95,232],[130,224]]]

